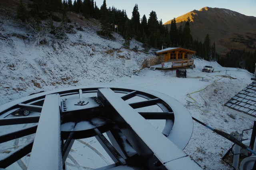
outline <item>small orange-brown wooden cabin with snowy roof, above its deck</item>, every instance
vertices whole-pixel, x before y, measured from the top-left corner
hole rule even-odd
[[[194,53],[196,53],[196,51],[180,47],[169,47],[166,49],[156,51],[156,54],[160,55],[160,57],[164,59],[164,62],[189,60],[191,59],[192,54]]]

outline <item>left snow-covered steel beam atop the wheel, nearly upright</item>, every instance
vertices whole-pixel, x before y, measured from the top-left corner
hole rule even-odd
[[[28,170],[62,169],[60,96],[46,95]]]

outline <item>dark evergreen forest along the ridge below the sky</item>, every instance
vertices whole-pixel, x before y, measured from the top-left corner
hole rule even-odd
[[[27,23],[32,30],[49,32],[56,38],[65,39],[66,33],[75,33],[72,21],[67,12],[75,12],[85,18],[100,20],[102,29],[98,34],[104,38],[112,39],[112,34],[117,31],[125,39],[124,47],[129,48],[130,40],[135,38],[142,42],[145,52],[151,47],[162,49],[162,47],[182,47],[196,51],[196,56],[208,61],[218,61],[226,67],[242,67],[254,72],[256,52],[250,53],[233,49],[226,55],[216,53],[215,42],[211,44],[207,34],[204,42],[194,40],[190,33],[189,20],[177,28],[175,18],[171,21],[170,28],[164,26],[162,20],[158,20],[156,12],[152,10],[148,18],[145,14],[141,17],[138,5],[135,4],[132,18],[127,17],[125,10],[116,9],[114,6],[107,7],[106,0],[98,7],[94,0],[30,0],[28,5],[22,0],[17,7],[17,19]],[[62,13],[62,18],[54,15],[54,12]],[[81,18],[82,19],[82,18]],[[48,28],[39,27],[41,20],[47,20]],[[52,22],[61,22],[59,27],[53,26]],[[82,30],[82,28],[76,28]],[[35,31],[36,32],[36,31]],[[43,34],[43,33],[41,33]],[[42,35],[43,37],[43,35]],[[135,49],[136,50],[136,49]],[[252,60],[254,62],[252,62]]]

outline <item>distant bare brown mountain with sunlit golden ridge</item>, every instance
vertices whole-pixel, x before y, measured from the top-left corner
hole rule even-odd
[[[227,52],[230,48],[245,49],[248,45],[256,45],[254,16],[245,16],[223,8],[204,7],[176,18],[177,27],[184,26],[188,19],[193,39],[203,42],[206,34],[209,34],[212,43],[216,43],[218,53]],[[170,27],[170,23],[171,20],[165,25]]]

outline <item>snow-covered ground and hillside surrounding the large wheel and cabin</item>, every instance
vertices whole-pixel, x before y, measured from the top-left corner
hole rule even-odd
[[[224,107],[224,103],[251,83],[253,75],[244,69],[221,67],[216,62],[196,58],[196,68],[187,69],[187,78],[178,78],[175,70],[142,69],[144,59],[154,54],[142,52],[142,44],[135,40],[131,41],[130,48],[137,45],[138,52],[125,49],[122,46],[124,40],[117,34],[114,35],[116,41],[105,40],[87,26],[83,27],[84,32],[68,35],[66,42],[34,45],[33,38],[28,36],[24,28],[11,21],[3,22],[1,18],[0,21],[0,33],[9,36],[8,40],[0,39],[0,105],[39,91],[72,86],[118,85],[151,89],[169,95],[180,101],[192,117],[227,133],[241,133],[253,126],[253,121],[235,115]],[[125,67],[128,59],[131,65]],[[204,65],[212,65],[214,73],[202,72]],[[131,75],[130,70],[136,74]],[[200,81],[202,77],[208,81]],[[187,101],[194,103],[188,104]],[[158,124],[154,126],[158,127]],[[4,133],[5,128],[0,127],[0,134]],[[244,138],[250,138],[250,133],[245,132]],[[67,160],[70,169],[96,168],[112,163],[105,156],[103,148],[95,149],[95,141],[93,138],[76,140]],[[193,134],[184,151],[202,168],[232,169],[221,160],[231,146],[232,142],[194,121]],[[80,149],[84,147],[90,151]],[[3,148],[7,146],[0,145],[2,155],[6,154]],[[85,155],[89,156],[83,158]],[[24,167],[28,160],[26,156]],[[18,167],[15,164],[9,169]]]

